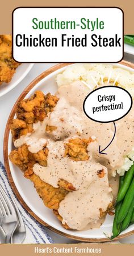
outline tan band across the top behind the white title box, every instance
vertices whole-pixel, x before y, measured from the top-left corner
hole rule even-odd
[[[83,0],[81,1],[61,1],[61,0],[5,0],[1,1],[1,15],[0,15],[0,34],[11,33],[11,14],[12,10],[20,6],[116,6],[124,11],[124,34],[134,34],[133,26],[133,7],[132,0]],[[113,17],[114,19],[114,17]]]

